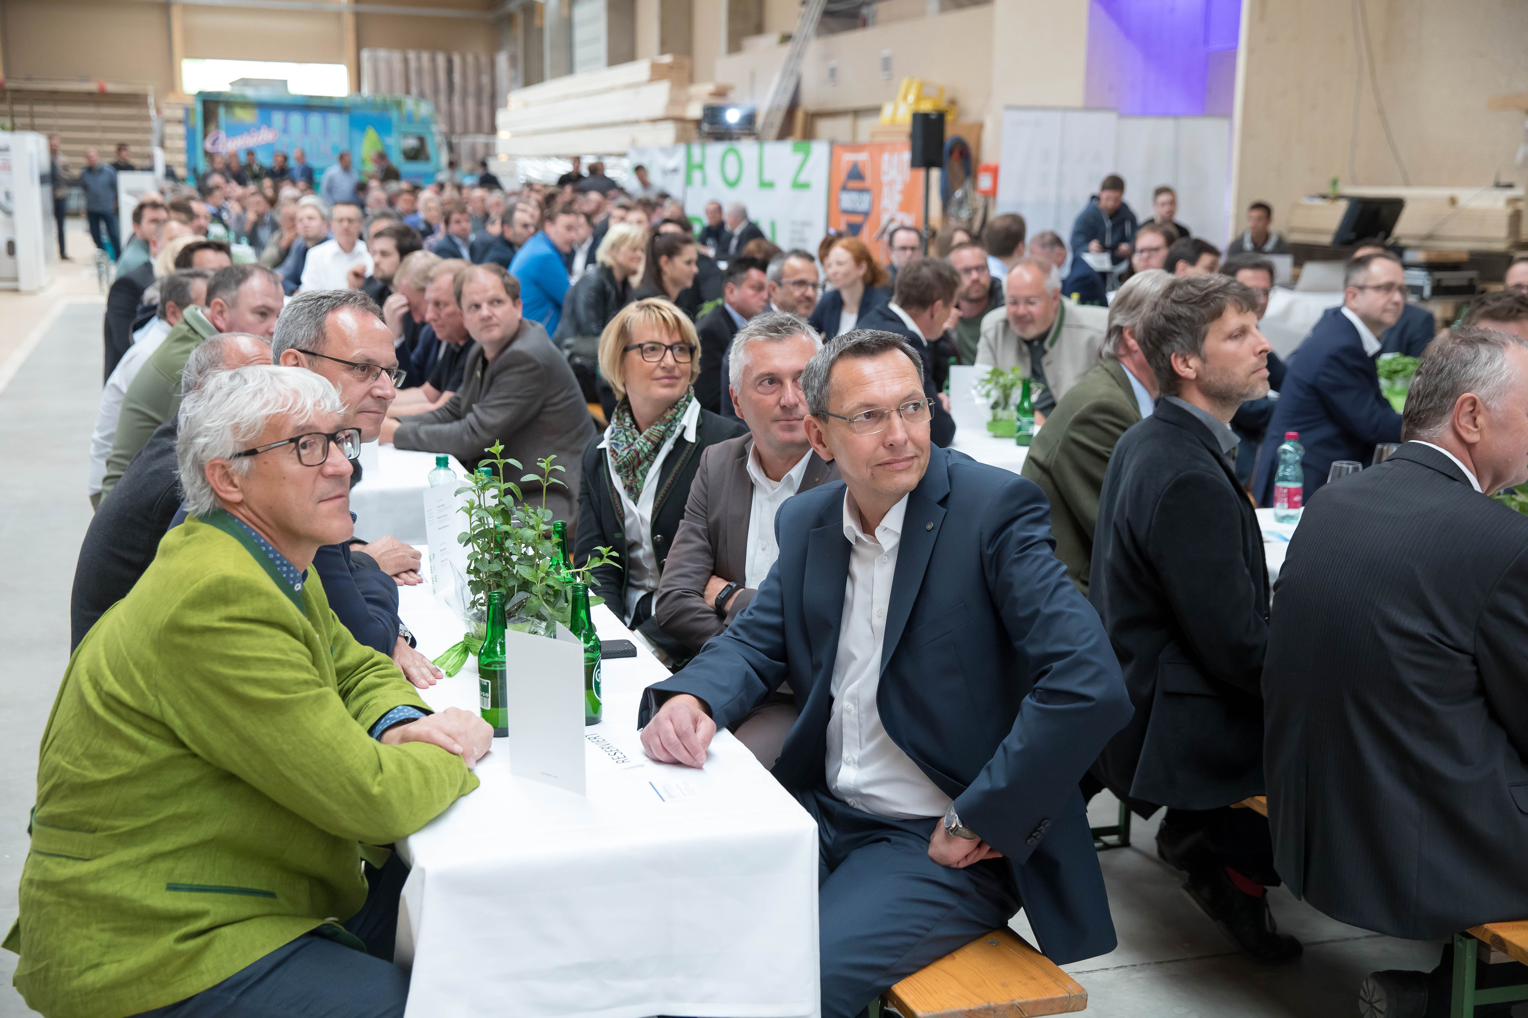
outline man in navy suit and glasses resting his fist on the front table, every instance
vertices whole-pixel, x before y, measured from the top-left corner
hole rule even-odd
[[[1054,962],[1114,948],[1077,780],[1131,716],[1118,662],[1039,487],[931,447],[921,375],[871,330],[808,362],[807,437],[843,481],[781,507],[752,604],[639,719],[648,755],[701,766],[790,684],[773,774],[817,821],[824,1018],[1021,905]]]

